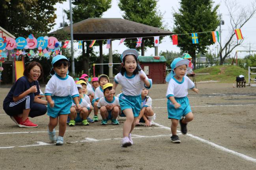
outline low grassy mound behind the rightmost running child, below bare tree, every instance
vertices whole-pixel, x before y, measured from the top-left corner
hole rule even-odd
[[[248,70],[239,66],[212,66],[194,70],[194,73],[209,73],[209,75],[196,75],[196,81],[215,80],[220,82],[232,83],[236,76],[244,75],[248,80]]]

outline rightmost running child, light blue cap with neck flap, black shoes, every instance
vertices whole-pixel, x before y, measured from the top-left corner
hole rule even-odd
[[[187,123],[194,119],[194,115],[187,98],[188,88],[198,93],[198,89],[194,88],[194,82],[186,76],[189,60],[183,58],[175,58],[171,63],[172,71],[166,77],[169,82],[166,92],[168,119],[171,119],[171,141],[172,143],[180,143],[177,135],[177,126],[180,124],[181,133],[187,133]],[[181,118],[183,117],[183,118]]]

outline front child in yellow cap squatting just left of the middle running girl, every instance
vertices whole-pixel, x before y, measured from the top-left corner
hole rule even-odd
[[[116,118],[119,115],[119,100],[117,97],[114,97],[114,94],[110,94],[113,84],[107,83],[103,86],[103,93],[105,97],[101,97],[97,104],[97,107],[100,109],[101,113],[101,125],[107,125],[108,120],[111,120],[111,124],[118,125],[119,122]]]

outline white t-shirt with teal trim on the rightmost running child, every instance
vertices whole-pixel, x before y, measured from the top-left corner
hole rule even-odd
[[[172,77],[168,84],[166,97],[185,97],[188,94],[187,90],[192,88],[194,88],[194,82],[189,77],[184,76],[181,82]]]

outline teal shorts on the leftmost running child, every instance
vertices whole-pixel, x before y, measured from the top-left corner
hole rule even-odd
[[[52,96],[52,100],[54,101],[54,107],[51,108],[50,104],[47,104],[47,115],[56,118],[59,115],[67,115],[70,113],[72,105],[72,98],[70,96]]]

